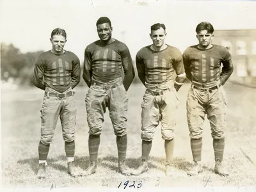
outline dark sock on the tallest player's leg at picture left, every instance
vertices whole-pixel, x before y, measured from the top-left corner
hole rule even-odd
[[[89,135],[88,140],[89,145],[89,154],[90,154],[90,161],[96,161],[98,159],[98,151],[100,146],[100,136],[99,135]]]

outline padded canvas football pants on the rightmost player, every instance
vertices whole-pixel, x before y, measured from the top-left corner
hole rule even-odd
[[[218,140],[224,138],[224,130],[227,125],[227,102],[223,86],[214,90],[198,90],[192,84],[187,100],[190,138],[202,138],[205,115],[211,125],[212,138]]]

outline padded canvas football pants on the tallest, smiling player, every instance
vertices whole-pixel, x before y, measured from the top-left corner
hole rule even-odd
[[[108,83],[93,80],[85,104],[89,134],[101,134],[106,108],[109,109],[116,136],[127,134],[128,97],[122,84],[122,77]]]

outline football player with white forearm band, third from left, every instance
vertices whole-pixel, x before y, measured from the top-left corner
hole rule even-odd
[[[157,125],[161,122],[161,133],[166,154],[166,175],[173,175],[173,131],[176,127],[177,92],[186,79],[182,54],[179,49],[164,43],[164,24],[151,26],[153,44],[143,47],[136,55],[138,76],[146,91],[141,105],[141,166],[132,174],[139,175],[148,170],[148,156]],[[173,84],[173,77],[175,82]]]

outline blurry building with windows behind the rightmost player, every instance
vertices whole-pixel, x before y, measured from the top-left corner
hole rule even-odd
[[[232,55],[230,80],[256,86],[256,29],[216,30],[212,43],[227,47]]]

